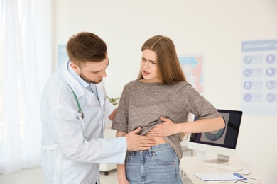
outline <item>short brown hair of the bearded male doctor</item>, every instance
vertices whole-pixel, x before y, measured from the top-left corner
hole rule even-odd
[[[99,36],[81,32],[72,35],[66,50],[70,61],[81,67],[85,62],[102,62],[106,59],[107,45]]]

